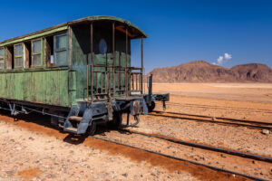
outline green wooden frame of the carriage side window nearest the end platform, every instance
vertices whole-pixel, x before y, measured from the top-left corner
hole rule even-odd
[[[62,48],[62,49],[57,49],[56,39],[57,39],[57,37],[60,37],[60,36],[65,36],[65,38],[66,38],[66,47]],[[66,62],[65,65],[59,65],[57,63],[56,56],[57,56],[58,52],[66,52],[66,61],[67,62]],[[69,38],[68,38],[68,33],[65,32],[65,33],[55,34],[53,36],[53,64],[54,64],[54,66],[55,67],[66,67],[66,66],[68,66],[69,65],[68,56],[69,56]]]

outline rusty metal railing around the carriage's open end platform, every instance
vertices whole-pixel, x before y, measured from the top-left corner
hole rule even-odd
[[[108,99],[116,96],[131,96],[132,92],[139,92],[138,95],[141,95],[143,89],[141,81],[141,68],[87,65],[86,97],[88,101],[92,101],[93,97],[99,96]]]

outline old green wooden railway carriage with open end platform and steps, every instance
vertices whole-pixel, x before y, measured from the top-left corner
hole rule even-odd
[[[77,134],[118,126],[123,112],[138,120],[152,100],[142,86],[146,37],[121,18],[92,16],[0,42],[0,109],[39,111]],[[141,68],[131,67],[132,39],[141,39]]]

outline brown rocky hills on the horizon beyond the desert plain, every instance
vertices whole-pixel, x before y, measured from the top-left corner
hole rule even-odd
[[[205,61],[151,71],[154,82],[272,82],[272,69],[265,64],[248,63],[230,69]]]

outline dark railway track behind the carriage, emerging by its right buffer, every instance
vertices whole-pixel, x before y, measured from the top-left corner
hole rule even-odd
[[[220,117],[210,117],[204,115],[195,115],[179,112],[166,112],[154,110],[149,115],[156,117],[164,117],[171,119],[189,119],[201,122],[212,122],[219,124],[227,124],[232,126],[242,126],[252,129],[272,129],[272,123],[248,120],[248,119],[230,119],[230,118],[220,118]]]

